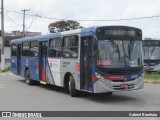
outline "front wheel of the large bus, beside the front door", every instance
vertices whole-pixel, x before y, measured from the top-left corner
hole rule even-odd
[[[70,91],[70,95],[71,97],[75,97],[77,94],[77,91],[75,89],[75,81],[74,78],[72,76],[70,76],[69,78],[69,91]]]

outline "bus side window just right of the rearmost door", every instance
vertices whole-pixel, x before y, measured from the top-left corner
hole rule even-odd
[[[30,42],[23,42],[22,44],[22,56],[29,56],[29,48],[30,48]]]

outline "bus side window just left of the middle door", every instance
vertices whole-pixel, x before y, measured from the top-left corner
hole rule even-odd
[[[38,41],[31,42],[29,56],[30,57],[38,57]]]

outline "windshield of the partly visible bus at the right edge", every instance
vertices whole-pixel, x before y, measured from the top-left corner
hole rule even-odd
[[[144,47],[144,59],[145,60],[159,60],[160,59],[160,47],[158,46],[146,46]]]

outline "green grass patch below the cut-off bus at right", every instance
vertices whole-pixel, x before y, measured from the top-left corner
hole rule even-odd
[[[144,81],[146,83],[160,83],[160,74],[158,73],[151,73],[151,74],[144,74]]]

